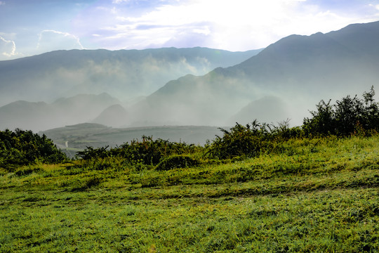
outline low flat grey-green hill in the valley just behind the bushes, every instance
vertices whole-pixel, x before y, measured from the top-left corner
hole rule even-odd
[[[145,126],[112,128],[102,124],[76,124],[41,131],[46,134],[59,148],[74,156],[78,150],[87,146],[94,148],[107,145],[115,147],[133,140],[141,140],[142,136],[152,136],[174,142],[185,142],[204,145],[220,134],[216,126]],[[67,151],[68,150],[68,151]]]

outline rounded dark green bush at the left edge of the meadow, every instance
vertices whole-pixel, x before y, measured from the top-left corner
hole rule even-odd
[[[0,131],[0,167],[12,170],[36,162],[53,164],[66,159],[66,155],[45,135],[21,129]]]

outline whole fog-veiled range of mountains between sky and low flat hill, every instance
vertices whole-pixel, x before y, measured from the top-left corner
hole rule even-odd
[[[245,52],[70,50],[3,60],[0,129],[300,125],[321,99],[377,86],[378,45],[371,22]]]

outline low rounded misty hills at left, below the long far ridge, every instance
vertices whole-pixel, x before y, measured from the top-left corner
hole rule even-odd
[[[79,94],[53,103],[15,101],[0,107],[0,129],[41,131],[91,122],[102,110],[121,103],[107,93]]]

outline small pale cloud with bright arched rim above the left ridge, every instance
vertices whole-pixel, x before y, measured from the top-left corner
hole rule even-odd
[[[68,32],[43,30],[39,33],[36,49],[40,52],[54,50],[84,49],[78,37]]]

